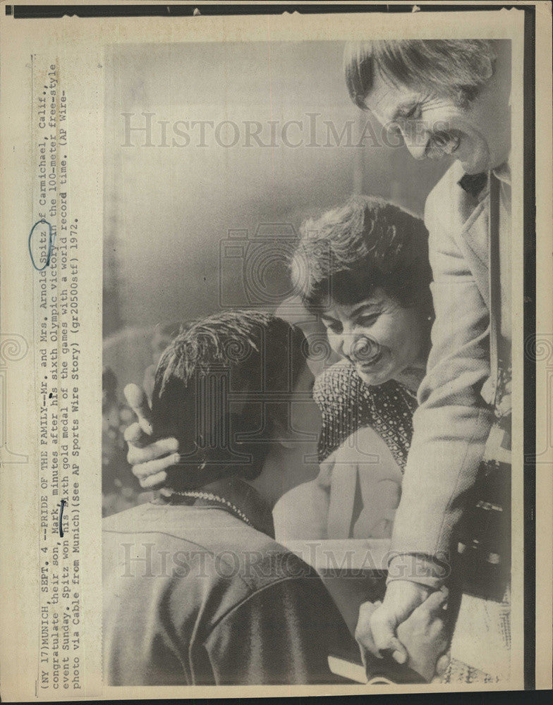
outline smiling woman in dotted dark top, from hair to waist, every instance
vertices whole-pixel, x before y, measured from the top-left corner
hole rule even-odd
[[[301,234],[291,278],[343,359],[315,384],[323,470],[296,497],[301,520],[297,526],[288,522],[286,532],[386,538],[430,348],[427,231],[420,219],[393,204],[356,196],[306,221]]]

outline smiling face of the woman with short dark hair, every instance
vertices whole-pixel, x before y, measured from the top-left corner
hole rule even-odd
[[[332,301],[321,319],[332,349],[351,360],[367,384],[383,384],[422,361],[425,332],[418,309],[401,306],[382,289],[353,305]]]

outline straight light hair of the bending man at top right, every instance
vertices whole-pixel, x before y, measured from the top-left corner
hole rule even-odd
[[[392,85],[430,89],[462,106],[492,76],[494,59],[487,39],[382,39],[348,42],[344,71],[351,99],[363,110],[376,68]]]

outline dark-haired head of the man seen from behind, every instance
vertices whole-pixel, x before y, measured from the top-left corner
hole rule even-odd
[[[275,427],[288,426],[305,369],[302,331],[272,314],[214,314],[180,333],[155,375],[154,426],[179,441],[166,485],[194,489],[220,477],[260,474]]]

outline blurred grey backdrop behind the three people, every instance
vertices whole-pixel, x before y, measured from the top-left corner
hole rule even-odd
[[[213,42],[107,51],[104,488],[115,498],[104,513],[138,492],[121,436],[132,418],[123,387],[150,391],[178,324],[245,305],[302,318],[286,269],[301,221],[352,193],[422,215],[446,170],[391,147],[351,103],[343,49]]]

